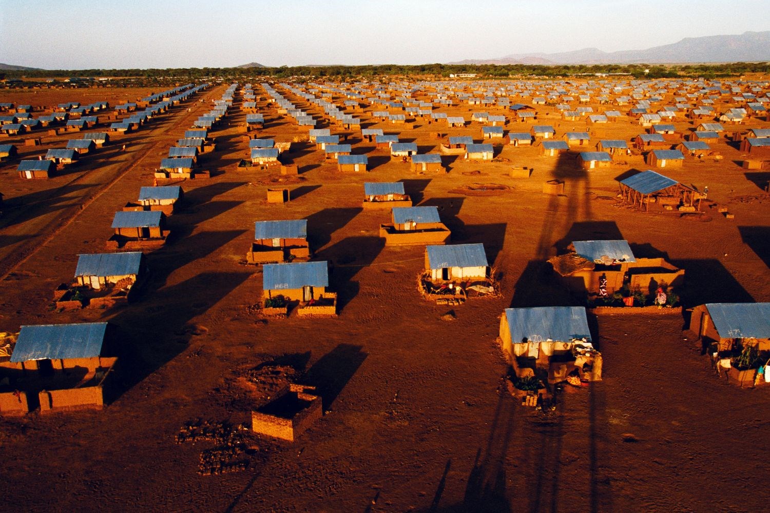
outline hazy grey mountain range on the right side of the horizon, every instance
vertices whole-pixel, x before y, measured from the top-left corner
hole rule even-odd
[[[770,31],[741,35],[708,35],[684,38],[671,45],[646,50],[602,52],[583,48],[571,52],[511,54],[500,58],[467,59],[448,64],[671,64],[684,62],[770,61]]]

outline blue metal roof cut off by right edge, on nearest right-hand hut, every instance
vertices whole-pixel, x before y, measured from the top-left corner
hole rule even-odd
[[[770,303],[708,303],[721,338],[770,338]]]

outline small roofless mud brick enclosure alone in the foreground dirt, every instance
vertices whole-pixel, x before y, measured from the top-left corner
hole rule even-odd
[[[272,401],[251,414],[252,430],[280,440],[296,441],[313,422],[323,416],[320,396],[307,393],[313,387],[287,385]]]

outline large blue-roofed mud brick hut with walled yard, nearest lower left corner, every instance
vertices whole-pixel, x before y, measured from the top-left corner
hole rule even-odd
[[[0,361],[9,383],[0,386],[0,412],[102,408],[117,361],[106,356],[111,331],[106,322],[22,326],[11,357]]]

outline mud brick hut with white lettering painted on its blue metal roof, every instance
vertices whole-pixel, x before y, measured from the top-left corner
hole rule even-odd
[[[298,315],[336,315],[336,293],[326,291],[326,261],[266,264],[262,285],[265,308],[296,304]]]

